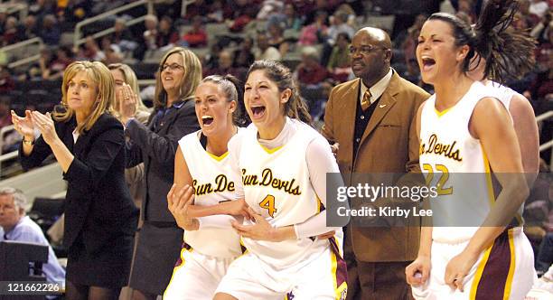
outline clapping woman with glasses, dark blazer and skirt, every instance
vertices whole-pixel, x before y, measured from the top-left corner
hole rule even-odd
[[[136,245],[130,286],[133,299],[155,299],[164,293],[180,257],[183,230],[167,209],[173,185],[174,155],[181,137],[200,129],[194,110],[194,91],[202,80],[198,57],[177,47],[165,54],[155,82],[155,110],[148,125],[129,114],[126,123],[127,168],[144,162],[144,221]],[[128,100],[128,102],[127,102]],[[131,97],[125,105],[133,106]],[[123,108],[131,113],[134,109]]]

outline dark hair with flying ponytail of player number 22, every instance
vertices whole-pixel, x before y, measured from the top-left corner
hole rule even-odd
[[[510,27],[518,8],[516,0],[489,0],[473,27],[453,14],[432,14],[428,21],[449,23],[455,45],[470,47],[463,61],[464,71],[470,70],[471,60],[479,54],[478,63],[481,59],[486,63],[484,78],[504,83],[520,79],[536,62],[533,56],[535,41],[528,33],[515,32]]]

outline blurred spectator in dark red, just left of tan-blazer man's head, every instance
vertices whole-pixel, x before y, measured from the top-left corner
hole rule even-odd
[[[319,52],[312,46],[302,49],[302,62],[295,69],[300,85],[318,85],[328,77],[326,69],[319,63]]]

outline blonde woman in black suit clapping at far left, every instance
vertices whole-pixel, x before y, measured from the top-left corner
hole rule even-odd
[[[117,299],[127,285],[137,210],[125,183],[125,136],[108,110],[114,81],[100,62],[76,61],[64,72],[63,111],[52,117],[12,111],[23,135],[24,169],[53,153],[68,182],[63,244],[69,249],[67,299]],[[41,132],[34,139],[34,128]]]

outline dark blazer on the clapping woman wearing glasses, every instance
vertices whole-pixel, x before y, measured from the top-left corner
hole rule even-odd
[[[144,162],[143,220],[173,223],[176,226],[173,215],[167,209],[167,193],[173,185],[174,155],[181,137],[200,129],[200,125],[192,99],[184,101],[180,108],[170,108],[156,122],[158,112],[159,109],[150,115],[147,126],[136,120],[129,122],[125,130],[129,136],[126,147],[127,168]],[[159,126],[155,127],[154,123]]]

